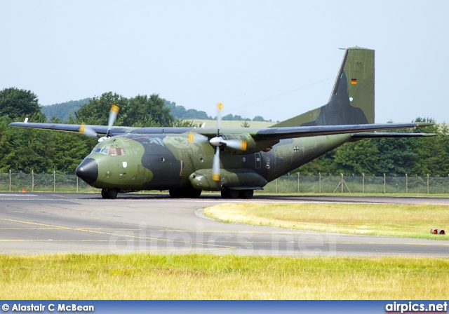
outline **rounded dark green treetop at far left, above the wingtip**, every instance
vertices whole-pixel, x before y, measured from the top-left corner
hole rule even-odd
[[[0,116],[18,118],[40,112],[39,100],[31,90],[12,87],[0,91]]]

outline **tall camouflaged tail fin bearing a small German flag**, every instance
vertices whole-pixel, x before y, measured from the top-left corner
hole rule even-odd
[[[347,48],[329,102],[273,128],[374,123],[374,50]]]

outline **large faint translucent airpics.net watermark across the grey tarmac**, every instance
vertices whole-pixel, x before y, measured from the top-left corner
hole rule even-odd
[[[150,230],[147,224],[142,222],[133,230],[109,233],[109,251],[335,256],[337,238],[338,235],[310,231],[210,231],[206,230],[201,222],[196,223],[195,229],[191,231]]]

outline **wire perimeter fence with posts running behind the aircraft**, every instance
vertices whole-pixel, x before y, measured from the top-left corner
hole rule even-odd
[[[53,173],[0,172],[0,191],[93,192],[76,177]],[[259,192],[259,191],[258,191]],[[270,182],[262,193],[449,193],[448,177],[371,177],[344,175],[287,175]]]

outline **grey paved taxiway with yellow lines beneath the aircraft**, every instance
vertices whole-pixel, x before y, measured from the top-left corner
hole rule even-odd
[[[0,254],[213,253],[273,256],[449,257],[449,241],[341,235],[222,224],[201,209],[232,202],[160,194],[0,193]],[[236,200],[239,202],[248,200]],[[447,204],[449,198],[255,196],[257,203]]]

